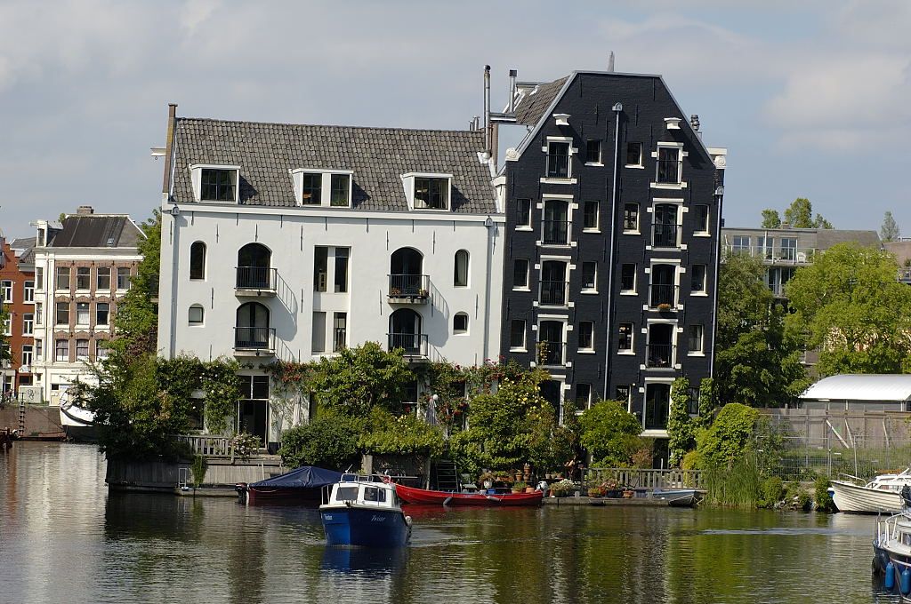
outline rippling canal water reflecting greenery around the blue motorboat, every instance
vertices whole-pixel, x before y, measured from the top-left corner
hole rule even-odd
[[[0,454],[0,602],[897,602],[875,518],[673,508],[413,512],[397,553],[315,510],[108,493],[86,445]]]

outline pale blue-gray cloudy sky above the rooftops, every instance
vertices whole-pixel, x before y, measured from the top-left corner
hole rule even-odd
[[[911,2],[0,0],[0,230],[160,204],[179,116],[466,128],[508,69],[660,74],[728,148],[724,218],[809,197],[835,227],[911,236]],[[622,100],[622,99],[619,99]]]

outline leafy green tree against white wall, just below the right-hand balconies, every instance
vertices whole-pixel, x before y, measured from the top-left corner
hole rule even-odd
[[[401,350],[386,352],[376,342],[322,357],[311,370],[309,388],[317,393],[322,408],[358,417],[366,417],[374,405],[397,408],[405,386],[415,379]]]

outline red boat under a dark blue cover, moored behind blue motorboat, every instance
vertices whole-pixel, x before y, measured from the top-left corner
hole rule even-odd
[[[322,503],[322,488],[342,478],[342,472],[332,469],[302,466],[281,476],[273,476],[259,482],[235,485],[241,500],[249,505],[283,504],[319,507]]]

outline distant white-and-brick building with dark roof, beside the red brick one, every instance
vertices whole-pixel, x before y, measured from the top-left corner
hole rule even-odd
[[[87,362],[106,355],[118,299],[136,274],[145,237],[125,214],[79,206],[63,224],[45,220],[35,247],[34,385],[59,404],[70,385],[92,381]]]

